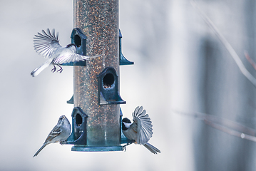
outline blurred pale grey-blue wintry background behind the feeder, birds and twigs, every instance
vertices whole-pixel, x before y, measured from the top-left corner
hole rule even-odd
[[[255,1],[198,0],[253,76],[244,56],[256,61]],[[209,113],[255,128],[256,88],[189,0],[119,1],[123,55],[124,117],[143,105],[153,121],[150,143],[161,150],[129,145],[126,152],[72,152],[48,145],[33,158],[60,115],[71,120],[73,67],[51,68],[32,78],[45,59],[33,37],[55,28],[61,46],[71,43],[73,1],[10,0],[0,6],[0,170],[255,170],[256,144],[236,138],[172,109]]]

